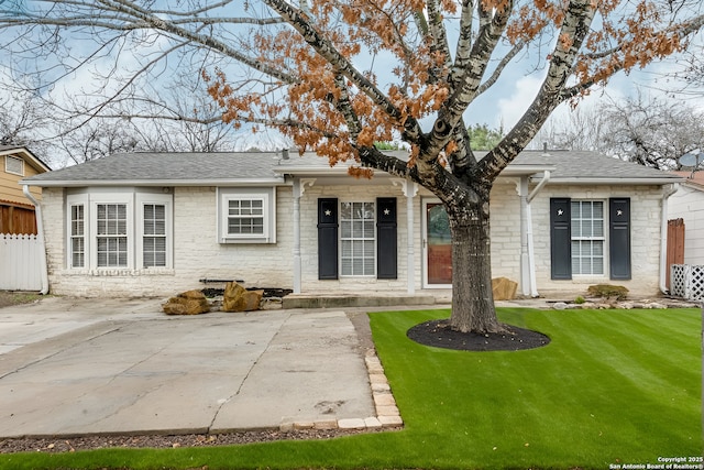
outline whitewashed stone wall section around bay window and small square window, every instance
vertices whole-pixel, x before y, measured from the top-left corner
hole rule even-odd
[[[292,188],[277,190],[275,244],[218,243],[215,187],[174,188],[174,267],[66,269],[66,208],[62,189],[48,188],[43,205],[50,286],[53,294],[77,296],[168,296],[202,288],[201,278],[245,281],[245,286],[293,285]]]

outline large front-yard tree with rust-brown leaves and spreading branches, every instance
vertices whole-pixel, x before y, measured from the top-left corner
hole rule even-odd
[[[48,77],[91,64],[102,72],[96,113],[177,62],[204,70],[227,122],[278,129],[332,163],[354,161],[358,177],[381,170],[425,186],[450,219],[451,326],[497,332],[497,176],[560,103],[685,48],[704,23],[701,9],[692,0],[37,0],[6,9],[0,29],[16,34],[6,50],[44,58]],[[69,36],[92,48],[66,48]],[[134,63],[106,66],[127,50]],[[494,84],[517,79],[509,72],[519,57],[535,61],[541,86],[477,161],[464,117]],[[157,84],[142,99],[158,99]],[[394,138],[411,146],[409,161],[375,149]]]

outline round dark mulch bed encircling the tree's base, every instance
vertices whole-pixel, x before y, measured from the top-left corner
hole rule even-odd
[[[476,334],[453,330],[447,319],[430,320],[410,328],[406,336],[435,348],[458,351],[519,351],[546,346],[550,338],[529,329],[504,325],[505,334]]]

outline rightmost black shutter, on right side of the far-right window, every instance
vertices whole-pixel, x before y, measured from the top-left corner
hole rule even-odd
[[[610,277],[630,278],[630,198],[608,199]]]

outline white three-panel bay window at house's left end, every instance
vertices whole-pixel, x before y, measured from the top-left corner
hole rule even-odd
[[[66,203],[69,269],[173,267],[170,194],[79,190]]]

